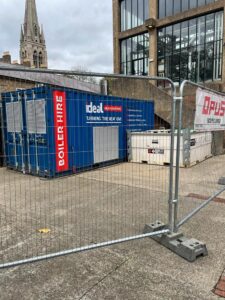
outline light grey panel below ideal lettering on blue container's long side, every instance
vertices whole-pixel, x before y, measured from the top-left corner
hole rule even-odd
[[[94,164],[119,159],[119,127],[94,127]]]

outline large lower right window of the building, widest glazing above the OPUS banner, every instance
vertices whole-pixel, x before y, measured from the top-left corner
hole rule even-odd
[[[158,75],[175,82],[222,77],[223,12],[158,30]]]

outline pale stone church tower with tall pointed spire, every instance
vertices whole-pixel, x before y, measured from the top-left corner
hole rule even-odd
[[[48,67],[44,31],[38,24],[35,0],[26,0],[20,35],[20,63],[31,68]]]

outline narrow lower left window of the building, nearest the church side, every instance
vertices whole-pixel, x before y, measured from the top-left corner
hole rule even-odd
[[[149,34],[141,34],[121,42],[121,73],[148,75]]]

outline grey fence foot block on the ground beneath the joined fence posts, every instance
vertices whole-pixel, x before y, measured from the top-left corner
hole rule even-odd
[[[161,229],[167,229],[167,226],[160,221],[145,225],[144,233],[150,233]],[[208,255],[206,245],[196,239],[184,237],[182,233],[167,233],[152,237],[155,241],[175,252],[189,262],[194,262],[200,256]]]

